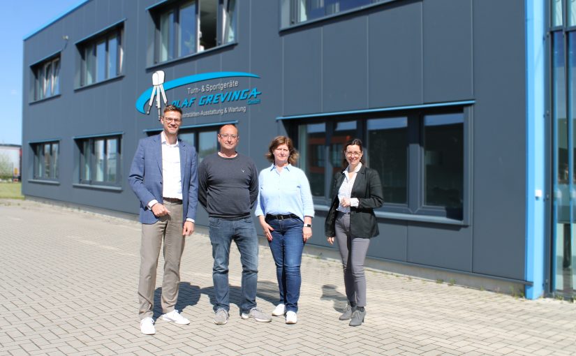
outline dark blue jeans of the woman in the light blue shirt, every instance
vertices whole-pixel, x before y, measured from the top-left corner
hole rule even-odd
[[[270,220],[268,225],[274,228],[272,241],[269,242],[272,257],[276,264],[276,278],[280,291],[280,303],[286,305],[286,311],[298,311],[300,299],[300,265],[302,264],[302,228],[304,223],[298,218]]]

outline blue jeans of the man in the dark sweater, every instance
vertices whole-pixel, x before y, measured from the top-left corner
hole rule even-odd
[[[214,311],[230,311],[230,285],[228,285],[228,262],[232,240],[240,251],[242,262],[242,301],[240,311],[248,313],[256,307],[256,287],[258,285],[258,236],[251,218],[223,220],[209,218],[209,235],[212,242],[212,280],[216,305]]]

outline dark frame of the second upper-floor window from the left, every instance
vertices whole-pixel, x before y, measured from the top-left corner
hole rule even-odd
[[[107,82],[108,80],[115,80],[124,75],[124,20],[112,24],[105,29],[98,31],[83,38],[76,43],[78,53],[78,69],[77,69],[77,89],[90,87],[92,85]],[[110,61],[110,43],[115,39],[115,73],[111,75],[111,61]],[[103,52],[103,70],[104,75],[102,79],[98,79],[98,45],[104,44]],[[88,80],[88,75],[91,75],[91,80]]]

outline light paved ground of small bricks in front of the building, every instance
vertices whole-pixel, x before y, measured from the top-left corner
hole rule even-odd
[[[339,263],[312,257],[302,261],[297,325],[242,320],[236,250],[230,320],[214,325],[211,248],[200,233],[186,242],[177,305],[191,325],[158,320],[156,335],[145,336],[138,223],[0,200],[0,226],[0,355],[576,355],[576,304],[383,272],[367,272],[366,322],[348,327],[338,320],[346,304]],[[258,306],[272,311],[276,290],[262,246]]]

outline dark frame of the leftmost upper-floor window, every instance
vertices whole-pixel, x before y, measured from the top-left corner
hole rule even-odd
[[[57,64],[57,67],[55,66]],[[50,66],[50,90],[47,91],[46,88],[46,71]],[[58,68],[57,74],[55,74],[54,68]],[[60,73],[62,68],[62,61],[60,52],[57,54],[52,54],[50,57],[38,61],[36,64],[30,66],[32,72],[32,84],[31,84],[31,101],[42,101],[47,98],[52,98],[54,96],[59,96],[60,87]],[[46,92],[47,91],[47,92]]]

